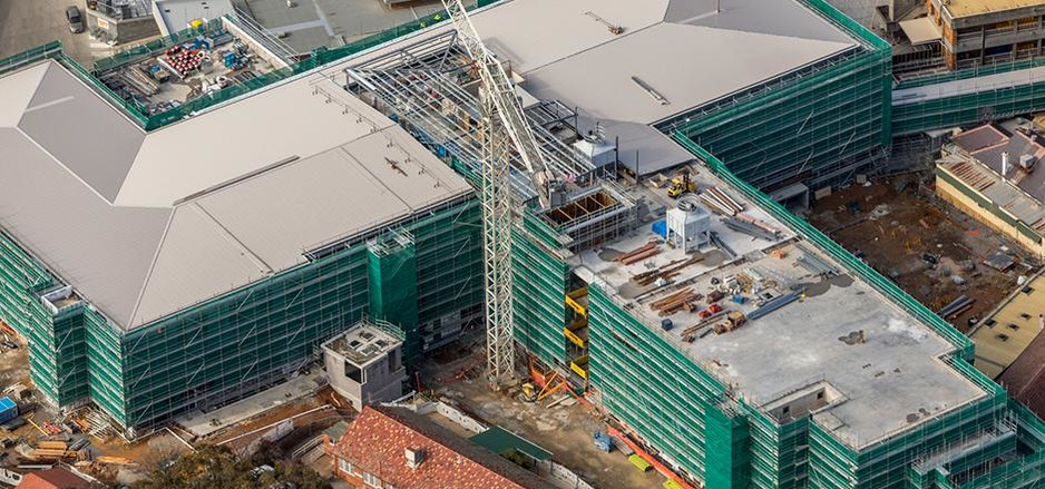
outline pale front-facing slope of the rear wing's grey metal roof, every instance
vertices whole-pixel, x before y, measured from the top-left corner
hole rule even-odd
[[[527,89],[594,117],[653,124],[852,43],[658,23],[526,74]],[[661,104],[633,77],[667,99]]]

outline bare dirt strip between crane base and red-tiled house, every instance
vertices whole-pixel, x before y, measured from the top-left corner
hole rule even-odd
[[[664,482],[654,470],[638,471],[617,450],[606,453],[596,449],[593,434],[597,430],[605,431],[606,426],[582,404],[560,403],[547,409],[549,403],[569,394],[554,394],[529,403],[505,392],[492,392],[479,375],[485,366],[482,352],[481,343],[448,348],[423,369],[424,391],[433,391],[469,415],[487,424],[498,424],[550,451],[553,460],[596,487],[658,488]]]

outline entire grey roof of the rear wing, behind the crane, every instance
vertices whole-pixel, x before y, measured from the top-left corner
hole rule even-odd
[[[622,163],[641,174],[692,159],[650,125],[859,46],[798,0],[729,0],[721,12],[715,0],[509,0],[471,20],[524,89],[599,120],[619,137]],[[449,29],[408,36],[328,72]]]

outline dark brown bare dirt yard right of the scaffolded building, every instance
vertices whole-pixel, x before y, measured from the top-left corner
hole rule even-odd
[[[931,187],[919,189],[914,177],[905,182],[906,186],[899,178],[876,180],[836,192],[819,199],[808,219],[932,311],[963,294],[974,299],[970,310],[949,320],[968,332],[970,320],[993,310],[1016,286],[1018,275],[1029,274],[1038,263],[999,233],[934,197]],[[1008,250],[1019,263],[1008,272],[984,265],[984,258],[999,250]],[[931,264],[926,254],[938,263]]]

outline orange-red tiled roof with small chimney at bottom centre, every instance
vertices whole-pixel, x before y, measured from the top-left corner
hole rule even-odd
[[[407,467],[406,449],[423,453]],[[549,488],[531,472],[403,408],[367,407],[331,450],[398,489]]]

